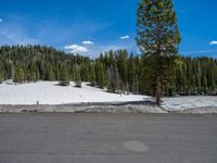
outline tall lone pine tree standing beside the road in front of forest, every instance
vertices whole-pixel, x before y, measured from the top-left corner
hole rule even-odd
[[[162,88],[175,70],[180,42],[176,12],[171,0],[142,0],[137,15],[137,43],[150,58],[156,104],[161,104]]]

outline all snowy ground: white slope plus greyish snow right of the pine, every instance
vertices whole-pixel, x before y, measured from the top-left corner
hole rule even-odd
[[[128,102],[152,99],[148,96],[108,93],[105,89],[90,87],[62,87],[58,82],[38,82],[14,85],[11,82],[0,84],[0,104],[66,104],[88,102]],[[152,99],[154,100],[154,99]],[[162,106],[169,111],[213,108],[217,111],[217,97],[176,97],[163,98]]]

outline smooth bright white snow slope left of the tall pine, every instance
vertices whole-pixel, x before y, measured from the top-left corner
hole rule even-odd
[[[115,95],[82,84],[82,88],[58,86],[58,82],[38,82],[21,85],[0,84],[0,104],[63,104],[79,102],[141,101],[144,96]]]

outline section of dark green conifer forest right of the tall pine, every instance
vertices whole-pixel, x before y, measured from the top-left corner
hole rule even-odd
[[[217,60],[209,58],[181,58],[176,73],[176,93],[216,95]]]

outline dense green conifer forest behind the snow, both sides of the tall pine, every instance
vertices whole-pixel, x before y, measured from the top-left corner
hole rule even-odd
[[[149,60],[142,55],[116,50],[101,53],[97,59],[74,55],[44,46],[1,46],[0,83],[74,80],[106,87],[111,92],[151,95]],[[217,59],[177,57],[176,71],[164,85],[165,96],[217,95]]]

